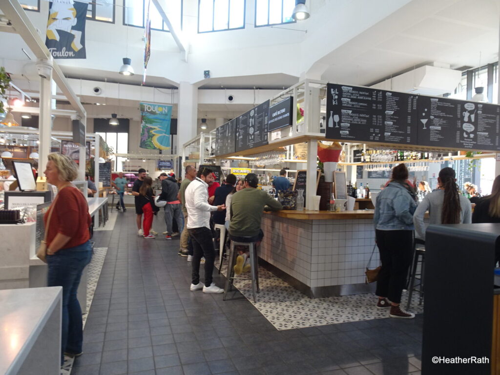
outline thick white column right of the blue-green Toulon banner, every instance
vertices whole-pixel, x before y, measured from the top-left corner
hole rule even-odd
[[[198,89],[189,82],[179,83],[177,106],[177,154],[182,154],[182,145],[196,136],[198,114]],[[184,161],[184,160],[182,160]]]

